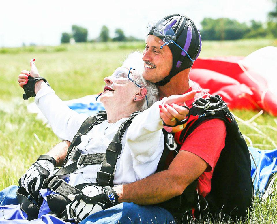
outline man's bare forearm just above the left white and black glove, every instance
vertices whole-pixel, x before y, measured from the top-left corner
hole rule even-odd
[[[56,167],[62,166],[69,146],[70,146],[70,142],[64,140],[58,143],[57,145],[55,145],[48,153],[46,153],[47,155],[53,157],[56,160],[57,162]]]

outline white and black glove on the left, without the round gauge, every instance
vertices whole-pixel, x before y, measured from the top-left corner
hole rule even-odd
[[[38,198],[39,190],[43,188],[44,180],[54,171],[56,160],[49,155],[41,155],[37,161],[19,179],[22,186],[35,199]]]

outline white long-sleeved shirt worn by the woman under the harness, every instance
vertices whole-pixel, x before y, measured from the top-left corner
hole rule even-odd
[[[47,118],[54,133],[61,139],[72,141],[81,124],[88,117],[71,110],[57,97],[53,89],[44,87],[38,91],[35,103]],[[114,185],[131,183],[153,174],[164,148],[163,123],[158,108],[159,102],[136,115],[125,131],[121,144],[122,152],[116,163]],[[95,125],[87,135],[81,136],[77,148],[84,154],[105,153],[120,125],[128,118],[115,123],[107,120]],[[72,161],[68,161],[68,164]],[[67,164],[67,165],[68,165]],[[69,184],[96,183],[100,165],[78,168],[69,176]]]

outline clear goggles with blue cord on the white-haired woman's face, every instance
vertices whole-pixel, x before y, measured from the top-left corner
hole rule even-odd
[[[113,78],[113,82],[115,82],[117,84],[124,84],[124,83],[129,82],[129,80],[131,80],[136,86],[138,86],[139,88],[142,88],[143,86],[136,84],[136,82],[132,79],[132,78],[134,78],[134,76],[131,73],[131,70],[135,70],[135,69],[133,69],[132,67],[130,67],[129,70],[124,67],[119,67],[119,68],[115,69],[115,71],[111,75],[111,77]],[[130,77],[132,77],[132,78],[130,78]],[[97,97],[95,97],[96,101],[97,101],[98,97],[100,97],[102,94],[103,93],[100,93]],[[146,95],[145,95],[145,99],[146,99],[146,103],[148,106],[148,99],[147,99]]]

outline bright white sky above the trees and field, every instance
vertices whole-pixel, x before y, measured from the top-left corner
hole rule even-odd
[[[121,28],[126,36],[145,39],[148,21],[177,13],[189,16],[200,28],[205,17],[265,22],[273,8],[271,0],[1,1],[0,47],[18,47],[23,42],[59,45],[61,33],[70,33],[72,25],[87,28],[88,39],[98,37],[103,25],[111,37]]]

